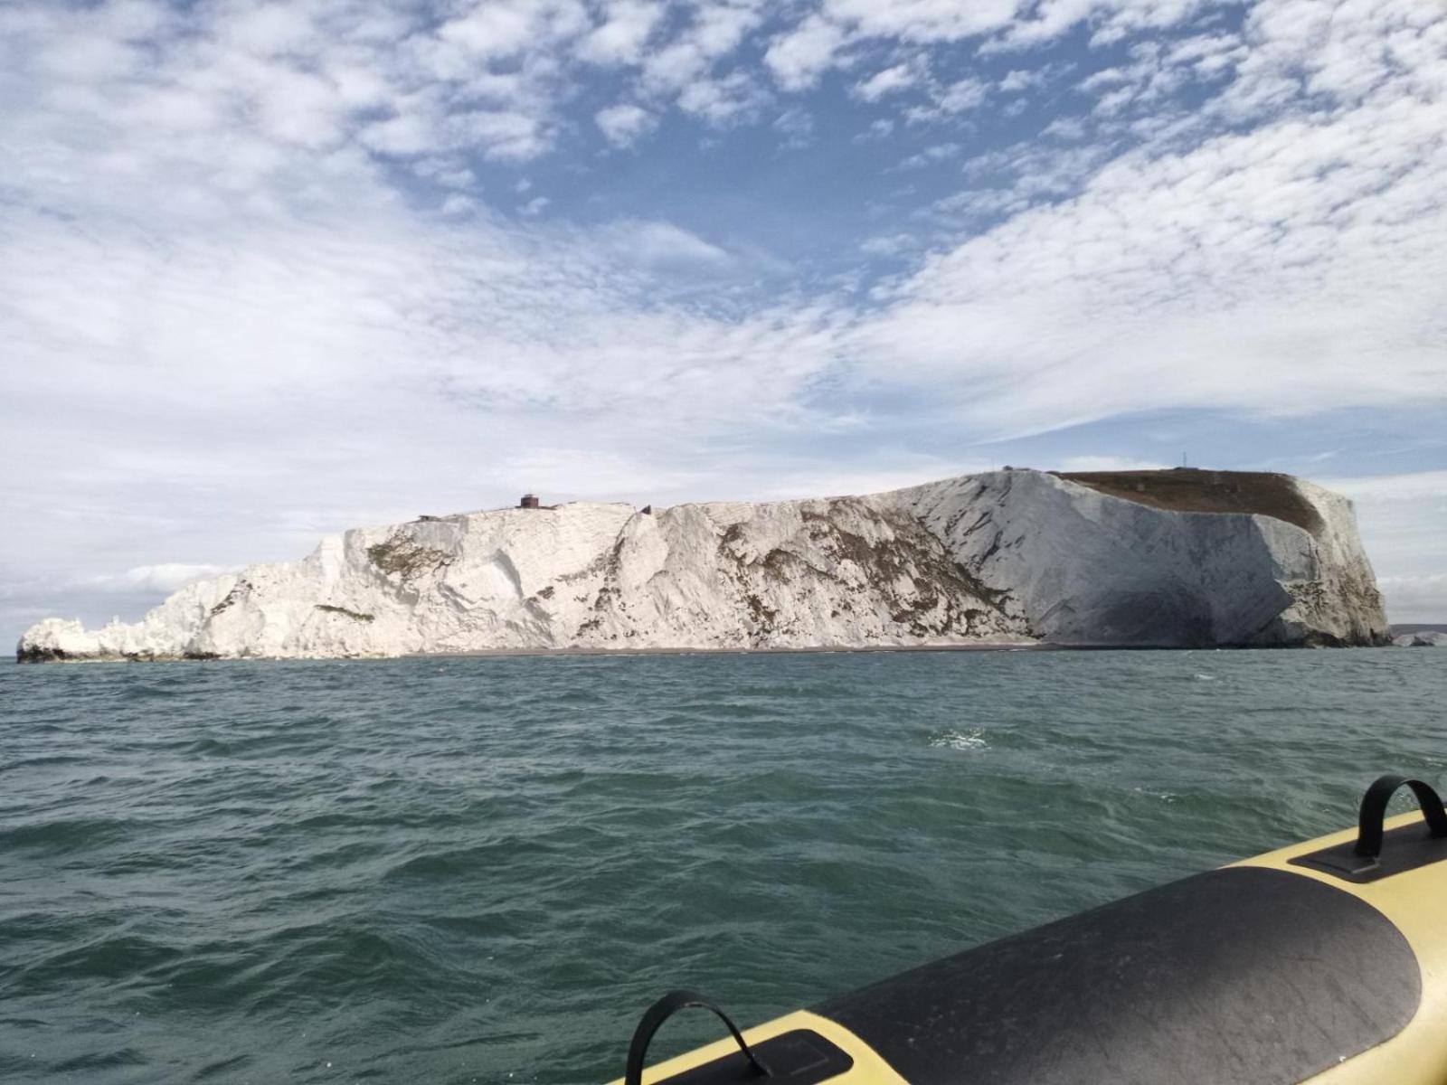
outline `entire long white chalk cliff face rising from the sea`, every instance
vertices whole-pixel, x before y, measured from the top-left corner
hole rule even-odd
[[[1311,516],[1160,508],[1032,470],[651,515],[462,514],[191,584],[135,625],[46,619],[17,657],[1383,642],[1350,502],[1269,477]]]

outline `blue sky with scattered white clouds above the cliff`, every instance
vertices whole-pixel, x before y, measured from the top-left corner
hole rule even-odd
[[[1014,464],[1447,622],[1441,0],[6,0],[0,637],[326,532]]]

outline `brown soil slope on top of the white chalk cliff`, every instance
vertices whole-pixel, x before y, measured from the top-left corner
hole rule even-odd
[[[1249,512],[1275,516],[1312,535],[1321,516],[1289,475],[1211,472],[1178,467],[1160,472],[1052,472],[1068,482],[1172,512]]]

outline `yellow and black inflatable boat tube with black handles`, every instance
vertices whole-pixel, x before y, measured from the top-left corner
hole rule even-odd
[[[1421,812],[1385,819],[1409,787]],[[739,1031],[674,991],[618,1085],[1447,1082],[1447,812],[1359,826],[990,942]],[[729,1036],[644,1069],[677,1010]]]

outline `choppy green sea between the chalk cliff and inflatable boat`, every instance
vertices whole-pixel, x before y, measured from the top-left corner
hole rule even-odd
[[[0,667],[0,1081],[606,1082],[669,990],[758,1023],[1444,784],[1444,706],[1406,648]]]

